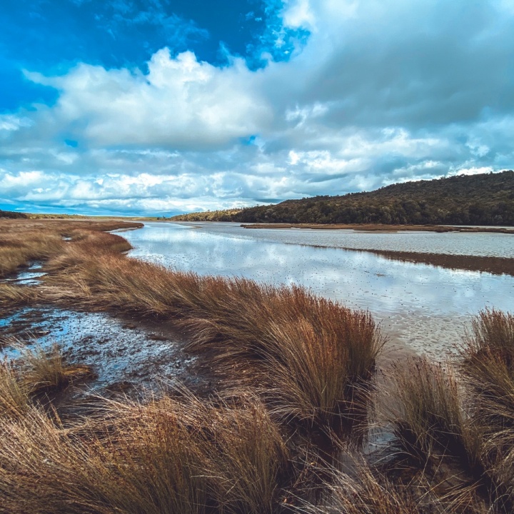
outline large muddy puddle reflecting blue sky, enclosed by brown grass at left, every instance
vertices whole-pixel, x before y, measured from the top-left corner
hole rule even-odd
[[[26,307],[0,317],[0,358],[19,358],[14,340],[29,348],[57,343],[69,363],[93,368],[96,378],[87,388],[161,388],[174,381],[190,385],[199,379],[189,368],[193,358],[181,342],[158,326],[122,321],[106,313],[82,313],[51,307]],[[3,343],[3,344],[2,344]]]

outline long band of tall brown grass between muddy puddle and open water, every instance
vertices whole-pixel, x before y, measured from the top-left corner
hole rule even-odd
[[[90,258],[94,255],[94,258]],[[71,247],[67,273],[45,281],[44,296],[140,318],[171,319],[186,351],[209,355],[233,386],[261,385],[279,418],[336,423],[375,370],[383,338],[371,315],[304,288],[169,271],[113,253]]]

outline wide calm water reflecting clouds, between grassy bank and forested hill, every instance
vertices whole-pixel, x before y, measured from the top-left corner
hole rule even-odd
[[[485,307],[514,311],[514,277],[390,261],[347,248],[514,256],[514,236],[245,229],[238,223],[145,223],[131,256],[204,275],[296,283],[368,309],[393,341],[443,358]]]

